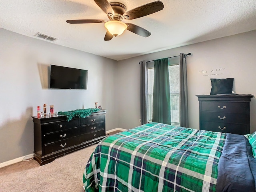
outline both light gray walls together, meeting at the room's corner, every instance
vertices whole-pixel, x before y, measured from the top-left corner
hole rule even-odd
[[[107,109],[106,130],[139,126],[141,60],[191,52],[187,59],[189,127],[199,128],[196,94],[210,94],[210,78],[234,77],[234,91],[256,96],[256,31],[114,61],[0,29],[0,163],[33,153],[36,106],[55,111]],[[178,62],[171,60],[171,62]],[[50,64],[86,69],[88,90],[49,90]],[[216,74],[216,69],[225,68]],[[202,70],[207,73],[202,74]],[[214,72],[211,72],[213,70]],[[204,75],[210,76],[204,76]],[[48,109],[49,110],[49,109]],[[256,98],[250,103],[256,130]]]

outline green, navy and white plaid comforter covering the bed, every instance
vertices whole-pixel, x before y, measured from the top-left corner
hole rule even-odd
[[[226,134],[148,123],[108,136],[84,170],[86,192],[214,192]]]

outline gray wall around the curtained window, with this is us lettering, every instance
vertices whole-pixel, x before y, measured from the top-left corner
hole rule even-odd
[[[140,65],[142,60],[154,60],[191,52],[187,58],[188,120],[190,128],[199,128],[197,94],[210,94],[210,78],[234,78],[237,94],[256,96],[256,30],[219,38],[189,46],[147,54],[118,62],[118,127],[130,129],[139,126],[140,119]],[[177,58],[170,60],[177,63]],[[217,69],[225,68],[220,71]],[[207,73],[200,73],[202,70]],[[211,72],[213,70],[213,72]],[[218,75],[212,75],[218,74]],[[204,76],[209,75],[209,76]],[[256,131],[256,98],[250,102],[251,132]]]

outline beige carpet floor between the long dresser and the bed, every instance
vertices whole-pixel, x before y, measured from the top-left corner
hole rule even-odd
[[[95,148],[88,146],[43,166],[32,160],[1,168],[0,192],[84,192],[84,168]]]

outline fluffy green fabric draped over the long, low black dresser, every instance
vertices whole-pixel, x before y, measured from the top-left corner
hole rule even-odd
[[[85,118],[88,117],[92,112],[97,112],[99,111],[98,108],[88,108],[88,109],[77,109],[74,111],[60,111],[58,112],[59,115],[64,115],[67,118],[67,121],[72,120],[75,117],[80,117],[80,118]]]

